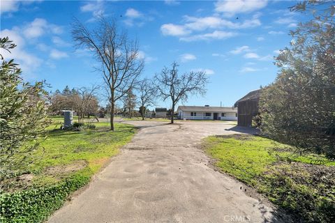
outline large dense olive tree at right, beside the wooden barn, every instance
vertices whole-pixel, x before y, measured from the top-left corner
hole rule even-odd
[[[335,6],[304,1],[291,10],[312,19],[290,31],[290,47],[276,57],[281,70],[262,91],[260,129],[299,153],[335,158]]]

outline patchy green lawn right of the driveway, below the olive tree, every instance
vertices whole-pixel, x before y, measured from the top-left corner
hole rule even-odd
[[[233,135],[204,139],[216,166],[303,222],[334,222],[335,161],[296,155],[294,148],[262,137]]]

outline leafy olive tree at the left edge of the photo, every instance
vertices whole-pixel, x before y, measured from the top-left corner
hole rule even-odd
[[[31,162],[31,152],[50,123],[44,82],[24,82],[17,63],[3,58],[15,46],[8,37],[0,39],[0,182]]]

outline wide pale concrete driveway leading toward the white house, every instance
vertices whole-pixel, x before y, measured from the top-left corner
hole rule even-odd
[[[248,129],[219,121],[125,123],[141,127],[133,141],[49,222],[280,222],[269,203],[211,169],[196,147],[208,135]]]

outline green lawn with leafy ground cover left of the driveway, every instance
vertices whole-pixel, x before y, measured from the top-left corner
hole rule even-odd
[[[94,123],[94,130],[60,130],[63,119],[52,120],[47,138],[33,153],[34,162],[22,176],[1,183],[7,187],[0,193],[0,222],[43,222],[136,132],[122,123],[114,124],[114,132],[107,123]]]

